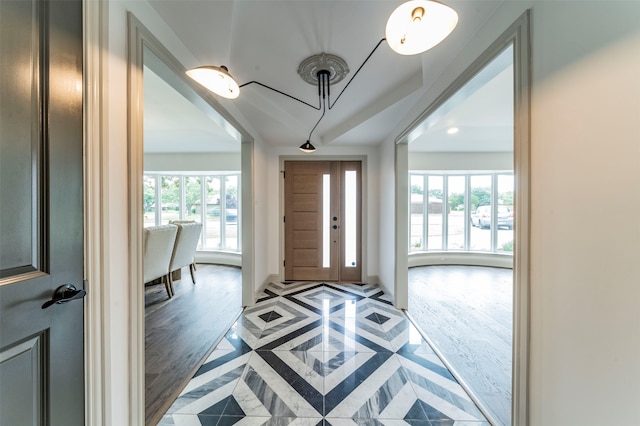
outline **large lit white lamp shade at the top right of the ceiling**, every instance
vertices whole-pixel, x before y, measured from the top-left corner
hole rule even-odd
[[[393,11],[386,27],[389,47],[401,55],[416,55],[444,40],[458,24],[458,14],[433,0],[412,0]]]

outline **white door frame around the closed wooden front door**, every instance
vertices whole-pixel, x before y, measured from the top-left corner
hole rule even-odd
[[[367,156],[366,155],[281,155],[279,157],[279,167],[280,167],[280,177],[279,177],[279,218],[280,220],[278,221],[280,223],[280,228],[279,228],[279,240],[280,240],[280,250],[279,250],[279,259],[278,259],[278,264],[279,264],[279,277],[278,277],[278,281],[283,281],[284,277],[285,277],[285,271],[284,271],[284,260],[285,260],[285,226],[284,226],[284,221],[282,220],[282,218],[284,217],[285,214],[285,205],[284,205],[284,201],[285,201],[285,192],[284,192],[284,179],[283,179],[283,173],[284,173],[284,162],[285,161],[360,161],[361,162],[361,185],[362,185],[362,199],[361,199],[361,222],[360,222],[360,226],[361,226],[361,238],[360,238],[360,245],[361,245],[361,252],[360,252],[360,256],[361,256],[361,263],[362,263],[362,270],[360,272],[360,280],[363,283],[369,282],[369,276],[367,275],[367,265],[368,265],[368,214],[367,212],[369,211],[369,209],[366,208],[366,206],[368,205],[368,184],[367,184]]]

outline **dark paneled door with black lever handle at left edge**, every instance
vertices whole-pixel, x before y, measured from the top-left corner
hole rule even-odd
[[[84,424],[82,90],[82,2],[0,0],[0,425]]]

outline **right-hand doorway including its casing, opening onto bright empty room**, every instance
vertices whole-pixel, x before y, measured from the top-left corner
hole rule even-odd
[[[410,268],[398,275],[398,292],[404,297],[406,289],[407,297],[400,304],[406,303],[447,367],[497,425],[527,421],[528,28],[525,13],[434,99],[396,145],[396,190],[408,200],[397,210],[396,265]],[[452,285],[438,287],[445,283]],[[451,294],[454,287],[460,290]],[[480,288],[482,297],[473,297]],[[428,300],[419,301],[427,291],[433,291]],[[485,297],[488,291],[502,297]],[[442,299],[446,292],[450,300]],[[458,319],[497,300],[504,305],[499,318],[486,316],[484,324],[471,320],[482,331],[456,329]],[[446,317],[442,309],[457,321],[447,322],[444,333],[454,345],[438,330],[429,331],[430,319],[423,315],[429,311],[440,320]],[[455,356],[460,341],[476,343],[458,351],[465,353],[464,361]],[[502,361],[493,365],[505,372],[499,387],[493,386],[496,371],[488,362],[495,359],[485,351],[496,347]]]

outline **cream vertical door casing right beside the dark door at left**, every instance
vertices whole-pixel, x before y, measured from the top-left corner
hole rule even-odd
[[[82,2],[84,33],[84,215],[85,215],[85,279],[88,296],[84,298],[85,338],[85,423],[89,426],[108,424],[111,408],[109,389],[109,362],[104,354],[109,337],[108,299],[103,295],[108,282],[104,268],[108,232],[104,229],[107,203],[106,173],[108,156],[106,123],[108,106],[103,90],[107,63],[107,5],[103,0]],[[129,365],[127,367],[130,367]],[[131,368],[125,374],[131,375]],[[133,400],[128,411],[135,410]],[[144,417],[142,417],[144,419]],[[133,419],[133,417],[130,417]]]

